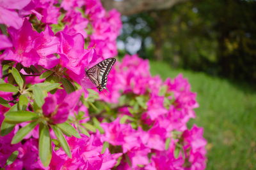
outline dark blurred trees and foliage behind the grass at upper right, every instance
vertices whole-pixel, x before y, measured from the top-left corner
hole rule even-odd
[[[120,40],[141,39],[143,58],[256,81],[256,1],[194,0],[124,17]]]

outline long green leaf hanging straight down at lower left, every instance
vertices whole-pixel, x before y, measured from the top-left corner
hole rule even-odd
[[[49,166],[52,159],[52,141],[47,125],[40,124],[39,127],[39,157],[44,167]]]

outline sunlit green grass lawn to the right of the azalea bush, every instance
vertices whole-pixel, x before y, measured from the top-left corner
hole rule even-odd
[[[175,70],[150,62],[151,73],[163,79],[182,73],[197,93],[196,124],[207,139],[207,169],[256,169],[256,90],[205,73]]]

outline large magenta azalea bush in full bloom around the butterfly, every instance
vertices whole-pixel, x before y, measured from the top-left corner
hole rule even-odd
[[[0,2],[0,167],[205,169],[203,128],[187,126],[196,94],[181,74],[162,81],[148,60],[125,55],[108,75],[109,92],[98,93],[86,76],[84,69],[117,55],[118,11],[100,0]],[[33,120],[10,117],[32,112]],[[46,159],[43,125],[51,141]]]

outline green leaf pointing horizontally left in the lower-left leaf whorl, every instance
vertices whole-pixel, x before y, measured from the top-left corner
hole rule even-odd
[[[28,122],[39,118],[36,113],[30,111],[8,111],[4,120],[9,124],[19,124],[21,122]]]

